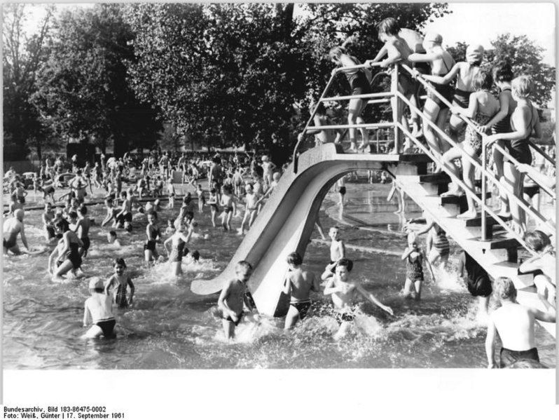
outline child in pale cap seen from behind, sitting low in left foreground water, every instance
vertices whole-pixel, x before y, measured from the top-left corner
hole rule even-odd
[[[92,327],[83,334],[83,338],[115,338],[114,326],[116,320],[113,316],[113,299],[110,294],[103,294],[103,280],[94,277],[89,282],[91,297],[85,301],[83,313],[83,327],[86,328],[92,321]]]

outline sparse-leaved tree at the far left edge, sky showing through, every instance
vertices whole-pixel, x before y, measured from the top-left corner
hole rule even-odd
[[[30,147],[36,148],[41,159],[43,147],[51,144],[48,130],[29,102],[36,86],[36,72],[45,59],[46,41],[50,36],[53,6],[47,6],[46,15],[39,22],[39,32],[28,35],[25,22],[29,5],[6,4],[3,7],[4,41],[2,65],[4,76],[4,158],[23,160]]]

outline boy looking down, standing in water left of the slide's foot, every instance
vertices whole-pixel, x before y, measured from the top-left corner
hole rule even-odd
[[[242,319],[244,306],[251,312],[256,309],[247,291],[247,281],[251,273],[252,266],[249,262],[237,262],[235,266],[235,278],[230,280],[226,286],[223,287],[219,295],[217,306],[221,309],[223,332],[227,339],[233,339],[233,337],[235,337],[235,327],[239,325]]]

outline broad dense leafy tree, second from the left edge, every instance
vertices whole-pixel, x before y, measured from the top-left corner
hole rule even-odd
[[[103,151],[112,141],[116,156],[149,147],[161,129],[158,110],[140,102],[127,83],[133,36],[120,10],[118,4],[96,4],[64,11],[32,97],[63,140],[94,142]]]

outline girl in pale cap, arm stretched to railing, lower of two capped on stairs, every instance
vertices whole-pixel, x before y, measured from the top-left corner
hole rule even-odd
[[[454,91],[453,106],[454,107],[469,107],[469,97],[474,93],[475,89],[472,86],[474,77],[480,71],[480,65],[483,61],[483,46],[471,45],[466,50],[466,61],[457,62],[450,72],[444,77],[431,76],[425,74],[423,79],[440,85],[448,85],[453,79],[456,79],[456,89]],[[449,135],[455,142],[458,141],[458,133],[464,128],[465,121],[462,120],[457,114],[450,116]]]

